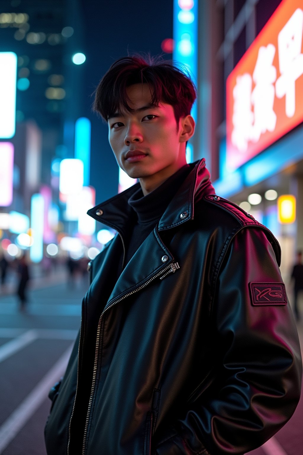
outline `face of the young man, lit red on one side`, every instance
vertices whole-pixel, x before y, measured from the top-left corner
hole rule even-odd
[[[109,143],[116,160],[129,177],[167,178],[186,164],[185,142],[189,137],[182,135],[183,120],[177,126],[170,104],[151,106],[147,84],[129,86],[127,95],[134,113],[116,112],[108,121]]]

